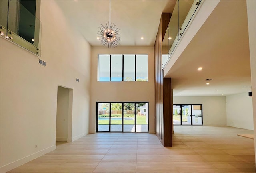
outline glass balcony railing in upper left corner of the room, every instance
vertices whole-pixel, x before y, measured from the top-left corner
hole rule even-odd
[[[42,22],[35,16],[36,1],[29,3],[30,10],[18,0],[0,1],[0,35],[40,56]]]

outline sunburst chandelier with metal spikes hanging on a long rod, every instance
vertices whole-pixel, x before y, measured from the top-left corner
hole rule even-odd
[[[106,22],[106,26],[100,24],[98,36],[100,37],[100,43],[108,48],[116,47],[121,41],[119,29],[115,24],[110,23],[110,11],[111,11],[111,0],[109,0],[109,22]]]

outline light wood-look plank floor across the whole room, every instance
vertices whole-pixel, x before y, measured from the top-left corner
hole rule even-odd
[[[255,172],[251,130],[228,126],[174,126],[173,147],[147,133],[89,134],[30,161],[12,173]]]

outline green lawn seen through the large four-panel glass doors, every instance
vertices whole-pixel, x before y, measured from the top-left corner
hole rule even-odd
[[[122,117],[122,115],[118,115],[115,117]],[[134,115],[124,115],[125,117],[129,117],[129,118],[134,118]],[[146,116],[143,115],[136,115],[136,124],[147,124],[146,123]],[[109,119],[107,120],[99,120],[98,122],[99,125],[104,125],[104,124],[109,124]],[[120,124],[122,125],[122,120],[111,120],[111,124]],[[134,124],[134,120],[124,120],[124,124]]]

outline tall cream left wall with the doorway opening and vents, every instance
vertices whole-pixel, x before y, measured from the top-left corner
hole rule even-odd
[[[41,1],[40,13],[46,67],[0,38],[1,173],[55,149],[58,85],[73,89],[72,140],[89,132],[91,46],[55,1]]]

